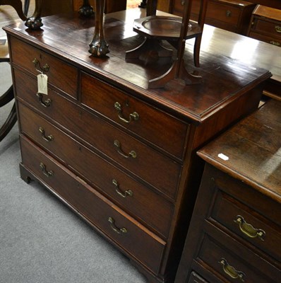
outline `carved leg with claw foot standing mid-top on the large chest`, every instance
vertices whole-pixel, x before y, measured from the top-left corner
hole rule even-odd
[[[105,57],[109,53],[109,46],[104,39],[104,4],[105,0],[95,1],[95,33],[89,50],[94,57]]]

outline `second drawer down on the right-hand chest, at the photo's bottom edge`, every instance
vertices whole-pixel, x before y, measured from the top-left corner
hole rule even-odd
[[[195,260],[223,277],[223,282],[234,282],[234,279],[247,283],[278,282],[278,270],[251,250],[238,246],[236,241],[227,239],[222,233],[215,238],[204,234]]]

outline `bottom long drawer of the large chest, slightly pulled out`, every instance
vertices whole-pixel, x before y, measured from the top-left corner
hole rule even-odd
[[[21,137],[23,164],[117,246],[151,271],[160,268],[165,242],[121,211],[64,166]],[[148,253],[149,250],[149,253]]]

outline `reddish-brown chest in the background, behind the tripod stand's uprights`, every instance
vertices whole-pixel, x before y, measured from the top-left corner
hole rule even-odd
[[[182,16],[185,1],[174,0],[172,13]],[[192,1],[191,20],[198,21],[201,0]],[[209,0],[205,23],[246,35],[255,4],[249,1]]]

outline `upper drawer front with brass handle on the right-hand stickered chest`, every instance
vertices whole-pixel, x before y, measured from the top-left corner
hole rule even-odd
[[[276,213],[280,214],[280,210]],[[210,216],[258,249],[264,250],[270,257],[280,260],[280,226],[265,219],[251,207],[219,190]]]

